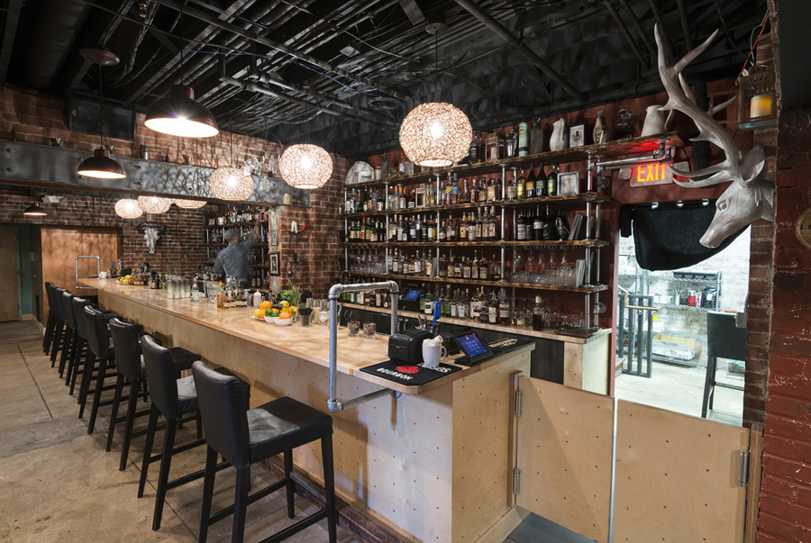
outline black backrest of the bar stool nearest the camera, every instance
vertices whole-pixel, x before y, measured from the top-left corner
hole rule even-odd
[[[192,364],[205,440],[232,466],[251,466],[248,456],[248,411],[243,386],[234,376],[218,373],[197,360]]]

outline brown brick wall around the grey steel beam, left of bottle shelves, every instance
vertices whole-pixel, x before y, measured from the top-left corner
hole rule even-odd
[[[98,136],[68,131],[65,125],[65,101],[61,98],[41,95],[11,88],[0,89],[0,139],[16,139],[40,145],[53,145],[55,140],[68,149],[85,150],[88,153],[99,144]],[[142,113],[137,115],[137,132],[134,141],[105,138],[105,145],[113,146],[113,154],[140,157],[141,146],[150,149],[150,158],[183,163],[183,155],[191,157],[197,166],[239,166],[249,158],[278,155],[283,147],[273,141],[251,138],[241,134],[221,131],[211,139],[190,140],[175,138],[150,131],[143,125]],[[88,155],[89,156],[89,155]],[[335,233],[342,222],[338,217],[338,204],[343,202],[343,180],[351,163],[333,155],[333,177],[321,189],[312,191],[309,208],[283,207],[280,213],[281,231],[281,286],[287,288],[287,269],[293,253],[305,260],[304,274],[294,280],[305,290],[316,295],[325,295],[337,270],[337,258],[342,256]],[[2,181],[2,179],[0,179]],[[7,197],[6,197],[7,196]],[[178,210],[173,206],[169,213],[153,215],[156,222],[167,225],[167,233],[161,236],[155,255],[149,255],[143,237],[132,227],[141,219],[127,221],[114,213],[116,198],[105,195],[69,195],[68,204],[46,205],[49,215],[43,220],[23,217],[23,209],[32,203],[27,189],[0,190],[0,222],[37,224],[64,224],[70,226],[109,226],[122,229],[122,258],[125,264],[147,261],[150,267],[164,270],[167,264],[177,263],[178,273],[190,275],[197,264],[205,262],[207,253],[203,244],[203,214],[216,213],[214,205],[201,210]],[[53,213],[50,213],[53,212]],[[306,233],[295,243],[288,231],[290,222],[299,226],[307,224]]]

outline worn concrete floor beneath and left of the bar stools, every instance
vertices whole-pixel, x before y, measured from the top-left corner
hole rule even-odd
[[[129,464],[125,471],[118,471],[120,431],[116,432],[113,450],[105,453],[110,407],[100,410],[96,431],[87,435],[89,408],[84,419],[77,418],[76,397],[68,395],[57,369],[50,367],[50,359],[42,353],[41,338],[33,322],[0,324],[0,541],[196,541],[202,479],[169,490],[161,528],[152,531],[159,464],[150,466],[146,492],[137,499],[144,438],[133,439]],[[146,417],[136,424],[136,430],[142,428]],[[120,430],[123,424],[118,427]],[[194,424],[185,425],[178,431],[176,443],[194,438]],[[156,451],[161,442],[156,437]],[[176,455],[170,476],[201,469],[204,461],[205,447]],[[232,468],[217,474],[213,512],[233,502],[234,476]],[[274,480],[257,468],[252,487],[258,490]],[[298,499],[296,519],[287,519],[284,491],[273,493],[248,507],[245,540],[267,538],[314,511]],[[230,541],[231,529],[231,517],[214,524],[208,541]],[[287,540],[327,541],[326,520]],[[349,543],[353,539],[338,529],[338,541]]]

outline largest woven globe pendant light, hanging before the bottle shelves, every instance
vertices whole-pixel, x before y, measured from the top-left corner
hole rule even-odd
[[[416,106],[400,126],[400,146],[415,164],[428,167],[449,167],[461,160],[470,149],[473,129],[468,116],[452,104],[440,102],[439,32],[448,26],[431,23],[425,29],[434,35],[436,66],[433,75],[433,102]]]

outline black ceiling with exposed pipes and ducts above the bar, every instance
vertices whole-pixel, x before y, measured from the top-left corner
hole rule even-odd
[[[435,88],[475,130],[659,92],[654,9],[678,56],[722,29],[688,81],[735,77],[766,14],[765,0],[475,1],[583,100],[454,0],[185,0],[182,24],[180,0],[0,0],[0,80],[95,94],[98,68],[78,51],[103,47],[122,60],[105,68],[105,97],[146,111],[180,82],[182,30],[183,77],[223,129],[364,157],[395,149]]]

